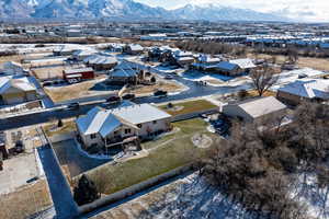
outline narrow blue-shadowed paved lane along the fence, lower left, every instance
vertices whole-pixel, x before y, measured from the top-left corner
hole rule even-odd
[[[56,219],[76,218],[78,216],[77,205],[56,162],[54,152],[47,145],[38,149],[38,154],[48,181]]]

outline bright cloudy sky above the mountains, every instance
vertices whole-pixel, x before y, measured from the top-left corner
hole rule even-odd
[[[188,3],[252,9],[261,12],[275,12],[303,21],[329,21],[329,0],[135,0],[152,7],[174,9]]]

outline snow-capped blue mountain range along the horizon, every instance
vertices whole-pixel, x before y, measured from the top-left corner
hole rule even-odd
[[[271,13],[216,4],[188,4],[175,10],[166,10],[134,0],[0,0],[0,18],[286,21],[286,18]]]

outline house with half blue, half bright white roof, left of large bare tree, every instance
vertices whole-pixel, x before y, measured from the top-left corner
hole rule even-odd
[[[220,61],[216,65],[216,69],[226,76],[238,76],[242,73],[249,73],[251,69],[257,66],[251,59],[235,59],[230,61]]]

